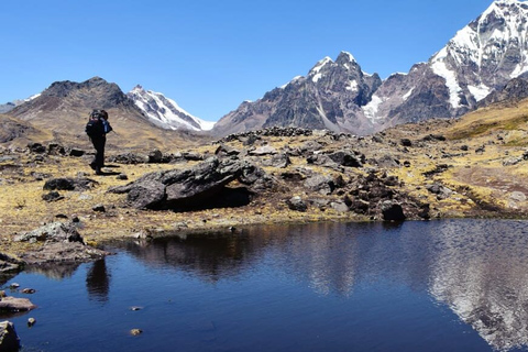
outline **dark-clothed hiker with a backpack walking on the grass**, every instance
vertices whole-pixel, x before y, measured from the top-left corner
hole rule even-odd
[[[102,175],[101,168],[105,167],[105,144],[107,143],[107,133],[110,131],[112,131],[112,127],[108,122],[107,111],[99,109],[91,111],[88,123],[86,124],[86,133],[96,148],[96,158],[90,163],[90,167],[96,170],[96,175]]]

